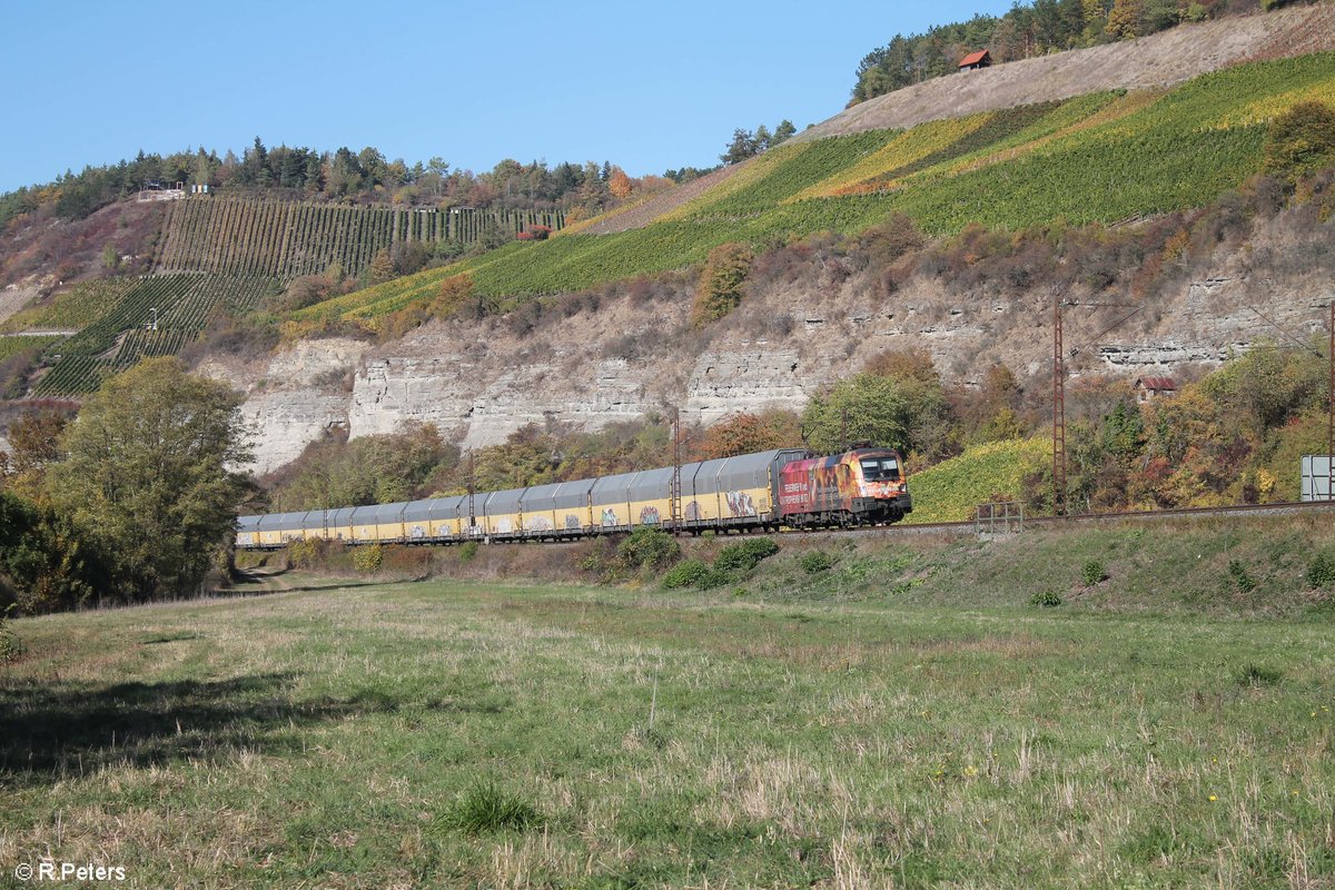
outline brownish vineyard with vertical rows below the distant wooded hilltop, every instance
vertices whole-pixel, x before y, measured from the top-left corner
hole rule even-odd
[[[192,199],[172,204],[158,271],[291,280],[336,266],[356,275],[379,251],[403,242],[471,244],[491,227],[559,230],[563,221],[559,212]]]

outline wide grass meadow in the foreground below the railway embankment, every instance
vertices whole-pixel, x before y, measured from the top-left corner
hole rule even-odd
[[[12,623],[0,886],[1335,886],[1328,615],[283,583]]]

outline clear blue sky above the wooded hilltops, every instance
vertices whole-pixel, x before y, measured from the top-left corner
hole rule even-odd
[[[1011,0],[765,4],[0,0],[0,192],[140,148],[359,151],[455,168],[717,163],[837,113],[858,60]]]

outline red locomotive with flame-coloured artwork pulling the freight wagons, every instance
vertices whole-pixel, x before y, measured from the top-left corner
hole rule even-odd
[[[780,520],[790,527],[896,522],[913,511],[904,460],[890,448],[854,448],[793,460],[780,471]]]

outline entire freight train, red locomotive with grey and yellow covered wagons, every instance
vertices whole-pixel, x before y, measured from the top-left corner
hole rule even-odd
[[[890,448],[829,456],[780,448],[527,488],[242,516],[236,547],[566,540],[642,527],[774,531],[889,523],[912,510],[904,462]]]

